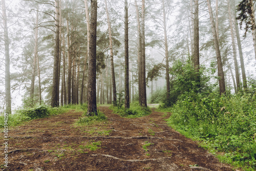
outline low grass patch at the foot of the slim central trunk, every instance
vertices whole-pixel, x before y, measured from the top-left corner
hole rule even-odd
[[[139,102],[130,103],[129,109],[125,109],[123,106],[121,106],[120,108],[118,108],[117,106],[111,106],[110,109],[113,110],[114,113],[127,118],[136,118],[151,114],[151,109],[141,107],[139,105]]]

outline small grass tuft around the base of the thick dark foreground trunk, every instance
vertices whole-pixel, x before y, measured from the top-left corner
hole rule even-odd
[[[79,120],[76,123],[82,124],[82,125],[88,125],[95,121],[106,120],[106,116],[102,112],[98,111],[97,114],[98,115],[87,116],[85,113],[84,115],[86,116],[79,118]]]

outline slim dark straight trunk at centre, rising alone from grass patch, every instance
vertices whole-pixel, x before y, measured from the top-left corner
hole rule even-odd
[[[124,108],[130,108],[128,3],[124,0]]]

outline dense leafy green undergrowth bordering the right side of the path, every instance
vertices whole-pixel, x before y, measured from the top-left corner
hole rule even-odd
[[[256,168],[256,94],[185,92],[169,112],[175,129],[225,152],[232,162]]]

